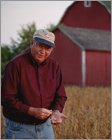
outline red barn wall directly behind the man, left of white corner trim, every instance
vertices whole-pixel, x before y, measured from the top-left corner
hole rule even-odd
[[[56,35],[56,48],[51,54],[62,70],[65,85],[82,86],[82,60],[81,50],[58,29]]]

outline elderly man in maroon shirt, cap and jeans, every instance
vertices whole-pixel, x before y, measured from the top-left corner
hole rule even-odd
[[[6,139],[54,139],[67,99],[58,63],[50,58],[55,36],[37,30],[30,49],[13,58],[4,70],[2,106]]]

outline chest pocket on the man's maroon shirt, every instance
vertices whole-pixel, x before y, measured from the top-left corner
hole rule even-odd
[[[48,94],[55,94],[56,92],[56,80],[55,79],[47,79],[46,80],[46,88]]]

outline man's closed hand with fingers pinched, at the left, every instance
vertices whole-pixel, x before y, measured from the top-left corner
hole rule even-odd
[[[28,110],[28,114],[34,116],[35,118],[43,120],[52,114],[52,110],[30,107]]]

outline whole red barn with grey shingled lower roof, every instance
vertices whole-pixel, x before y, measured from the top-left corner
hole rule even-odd
[[[97,1],[74,2],[53,32],[51,56],[61,67],[65,85],[111,85],[111,15]],[[85,6],[86,4],[86,6]]]

